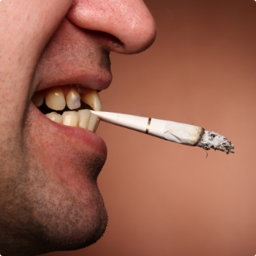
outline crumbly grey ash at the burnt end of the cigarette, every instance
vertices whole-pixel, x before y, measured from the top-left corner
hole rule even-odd
[[[231,141],[215,132],[205,131],[196,146],[206,150],[213,148],[214,150],[223,151],[227,154],[235,153],[232,151],[235,147]]]

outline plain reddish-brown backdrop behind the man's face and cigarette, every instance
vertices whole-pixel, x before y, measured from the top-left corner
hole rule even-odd
[[[196,124],[236,154],[206,151],[101,123],[99,176],[109,224],[78,252],[48,256],[256,254],[256,2],[148,0],[154,45],[112,54],[105,110]]]

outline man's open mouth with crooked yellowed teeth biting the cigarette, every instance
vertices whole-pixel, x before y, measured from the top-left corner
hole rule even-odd
[[[35,92],[31,101],[56,123],[91,132],[96,132],[99,125],[99,118],[90,111],[102,111],[102,102],[94,89],[81,85],[55,86]]]

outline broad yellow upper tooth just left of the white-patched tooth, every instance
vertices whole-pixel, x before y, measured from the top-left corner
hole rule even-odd
[[[45,97],[45,104],[53,110],[63,110],[66,106],[63,91],[59,87],[53,87]]]

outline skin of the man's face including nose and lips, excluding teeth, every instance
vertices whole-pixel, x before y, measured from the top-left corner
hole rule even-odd
[[[156,36],[140,0],[0,1],[0,254],[38,255],[97,241],[108,216],[97,187],[104,141],[53,123],[35,91],[110,86],[110,51],[139,53]]]

